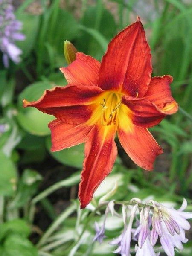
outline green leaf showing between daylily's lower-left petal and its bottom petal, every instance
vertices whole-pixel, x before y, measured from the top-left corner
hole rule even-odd
[[[82,163],[84,160],[84,144],[79,144],[58,152],[51,152],[51,138],[47,137],[46,146],[52,157],[54,157],[60,163],[64,163],[68,166],[74,166],[76,168],[82,168]]]

